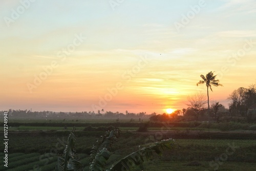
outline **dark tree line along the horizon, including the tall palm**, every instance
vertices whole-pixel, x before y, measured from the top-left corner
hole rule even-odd
[[[219,87],[223,86],[220,83],[220,80],[217,79],[217,75],[214,74],[214,72],[210,71],[205,76],[200,75],[201,79],[199,82],[197,82],[197,86],[200,84],[205,84],[206,90],[207,90],[207,99],[206,96],[202,93],[197,93],[194,95],[190,95],[187,97],[187,109],[182,110],[176,110],[170,115],[167,114],[156,114],[152,113],[150,115],[146,114],[146,112],[140,112],[140,113],[129,113],[128,111],[125,111],[124,113],[119,112],[111,112],[106,111],[102,109],[101,111],[98,110],[96,113],[93,112],[50,112],[50,111],[42,111],[42,112],[32,112],[32,110],[9,110],[9,114],[14,117],[84,117],[84,118],[90,118],[90,117],[108,117],[108,118],[143,118],[143,117],[151,117],[151,120],[153,121],[167,121],[167,120],[175,120],[179,121],[182,120],[181,116],[190,116],[195,117],[195,121],[198,121],[199,116],[208,116],[215,119],[215,121],[220,121],[220,117],[223,114],[226,114],[227,116],[234,117],[234,116],[242,116],[247,117],[248,119],[248,109],[253,104],[256,104],[256,84],[251,84],[248,88],[238,88],[234,90],[228,97],[227,100],[230,101],[229,103],[229,109],[225,109],[224,105],[219,103],[218,101],[215,101],[213,103],[209,103],[209,89],[211,92],[213,92],[212,87]],[[207,104],[207,108],[206,105]],[[2,111],[1,113],[4,113]],[[207,113],[207,114],[206,114]],[[221,115],[222,114],[222,115]],[[255,113],[256,115],[256,113]],[[251,119],[251,116],[250,118]],[[256,117],[255,117],[256,120]]]

